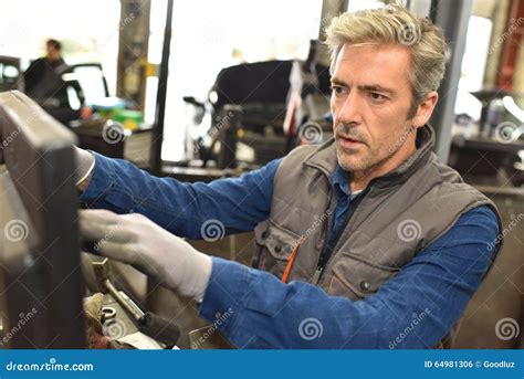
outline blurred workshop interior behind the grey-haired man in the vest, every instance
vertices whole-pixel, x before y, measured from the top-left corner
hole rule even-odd
[[[374,0],[1,1],[0,92],[24,91],[23,72],[62,43],[72,66],[65,117],[80,146],[133,161],[157,176],[206,181],[238,176],[332,136],[324,28]],[[440,24],[450,49],[431,119],[436,152],[491,198],[504,249],[469,304],[455,348],[524,348],[524,0],[412,0]],[[77,114],[76,114],[77,115]],[[59,117],[59,116],[56,116]],[[198,250],[250,264],[252,233],[214,234]],[[85,255],[85,254],[84,254]],[[84,256],[96,292],[93,256]],[[178,345],[205,327],[193,302],[113,262],[129,297],[181,327]]]

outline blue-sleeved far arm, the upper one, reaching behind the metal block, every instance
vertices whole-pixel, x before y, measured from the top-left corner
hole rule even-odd
[[[201,239],[206,225],[218,228],[223,235],[250,231],[265,220],[280,164],[280,159],[273,160],[239,178],[184,183],[154,177],[125,160],[94,156],[96,165],[81,197],[88,208],[142,213],[164,229],[191,239]]]

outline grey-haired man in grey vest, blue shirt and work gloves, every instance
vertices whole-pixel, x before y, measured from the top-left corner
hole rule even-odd
[[[442,346],[501,229],[494,204],[431,151],[443,36],[388,7],[342,14],[327,43],[334,139],[209,185],[154,178],[99,155],[94,164],[78,150],[83,200],[132,213],[83,211],[81,233],[200,302],[200,315],[220,319],[237,347]],[[260,270],[179,238],[251,230]]]

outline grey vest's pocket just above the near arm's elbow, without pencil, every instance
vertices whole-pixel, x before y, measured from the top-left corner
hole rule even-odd
[[[324,281],[329,295],[361,299],[375,294],[380,286],[400,271],[369,262],[361,256],[342,253]]]

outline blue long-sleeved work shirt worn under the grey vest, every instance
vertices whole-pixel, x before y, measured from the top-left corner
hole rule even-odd
[[[125,160],[95,157],[82,196],[90,208],[139,212],[191,239],[202,238],[209,220],[219,221],[224,234],[251,231],[266,220],[280,165],[275,160],[239,178],[185,183],[153,177]],[[332,178],[337,197],[332,234],[352,206],[347,179],[339,168]],[[200,315],[241,348],[432,348],[479,288],[497,233],[493,210],[472,209],[361,301],[329,296],[304,282],[284,284],[270,273],[213,257]]]

